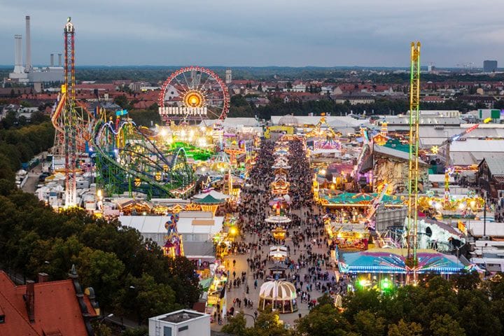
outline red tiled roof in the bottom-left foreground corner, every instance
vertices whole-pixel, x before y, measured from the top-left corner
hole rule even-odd
[[[23,299],[26,286],[15,286],[7,274],[0,271],[0,307],[5,313],[0,335],[87,336],[71,279],[35,283],[34,292],[35,321],[31,323]],[[96,316],[88,297],[84,296],[84,302],[90,315]]]

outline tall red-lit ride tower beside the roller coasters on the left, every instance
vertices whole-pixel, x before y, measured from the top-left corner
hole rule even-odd
[[[64,26],[64,93],[65,106],[64,155],[65,155],[65,206],[76,205],[76,92],[75,92],[75,29],[68,18]]]

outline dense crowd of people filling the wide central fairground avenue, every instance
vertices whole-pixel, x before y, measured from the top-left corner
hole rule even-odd
[[[288,148],[290,202],[286,204],[284,214],[290,218],[290,223],[283,225],[287,230],[285,240],[274,239],[272,227],[265,222],[267,216],[274,214],[270,203],[275,197],[271,188],[274,181],[272,141],[262,142],[255,165],[241,190],[238,216],[244,241],[235,243],[235,250],[246,252],[247,258],[246,272],[243,271],[240,277],[230,281],[232,291],[229,294],[234,297],[233,307],[241,308],[241,302],[247,302],[246,307],[253,307],[253,302],[248,298],[249,288],[253,286],[256,290],[264,281],[274,280],[269,270],[273,262],[285,269],[285,279],[294,284],[298,302],[306,304],[307,308],[311,308],[314,299],[324,292],[342,293],[343,286],[335,279],[331,270],[321,211],[313,202],[313,172],[303,144],[301,141],[288,141]],[[288,256],[283,260],[272,260],[269,247],[279,244],[286,246]],[[248,276],[244,277],[244,274]],[[318,293],[314,294],[314,291]],[[231,314],[234,311],[235,309],[232,309]],[[257,314],[256,311],[254,313]]]

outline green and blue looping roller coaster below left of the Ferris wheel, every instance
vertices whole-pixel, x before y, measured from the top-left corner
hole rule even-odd
[[[119,111],[118,111],[119,112]],[[194,188],[193,169],[186,152],[179,148],[165,155],[126,113],[116,123],[99,120],[92,148],[95,152],[97,183],[108,195],[134,191],[148,197],[179,197]]]

